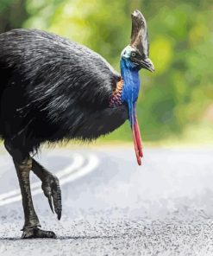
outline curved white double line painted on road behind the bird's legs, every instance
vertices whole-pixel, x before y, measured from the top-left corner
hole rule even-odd
[[[74,154],[72,164],[67,166],[64,170],[60,170],[55,175],[60,178],[60,185],[64,185],[68,182],[77,180],[78,178],[89,174],[92,170],[95,170],[99,165],[98,158],[93,154],[88,154],[83,157],[80,154]],[[87,160],[86,164],[85,160]],[[32,195],[42,194],[41,182],[34,182],[31,184]],[[9,204],[12,202],[18,202],[22,200],[20,189],[9,191],[0,195],[0,206]]]

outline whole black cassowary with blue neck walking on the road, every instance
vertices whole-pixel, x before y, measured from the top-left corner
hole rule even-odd
[[[139,70],[153,71],[147,25],[132,14],[130,44],[122,50],[121,75],[91,49],[40,30],[14,29],[0,35],[0,134],[16,167],[25,223],[22,238],[55,238],[42,230],[34,211],[29,172],[41,179],[50,208],[61,216],[60,183],[33,155],[44,142],[92,140],[127,119],[141,164],[141,135],[135,106]]]

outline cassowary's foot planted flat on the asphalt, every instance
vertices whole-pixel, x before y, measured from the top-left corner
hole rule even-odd
[[[34,238],[56,238],[53,231],[45,231],[39,227],[24,228],[22,233],[22,239],[34,239]]]

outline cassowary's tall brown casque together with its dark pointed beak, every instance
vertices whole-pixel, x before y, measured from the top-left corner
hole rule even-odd
[[[137,57],[133,59],[141,68],[153,72],[153,62],[149,59],[149,46],[147,35],[147,22],[141,11],[135,10],[132,14],[132,33],[130,46],[138,52]]]

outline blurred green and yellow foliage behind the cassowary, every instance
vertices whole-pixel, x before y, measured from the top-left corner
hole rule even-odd
[[[138,118],[147,144],[213,143],[213,4],[208,0],[0,0],[0,32],[44,29],[85,44],[119,71],[130,13],[147,19],[156,72],[141,72]],[[128,122],[107,141],[132,140]]]

